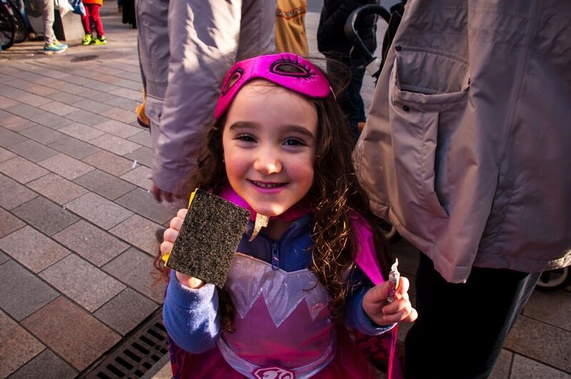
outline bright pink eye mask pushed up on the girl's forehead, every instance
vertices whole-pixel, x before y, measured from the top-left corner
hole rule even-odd
[[[216,120],[223,116],[238,91],[252,79],[265,79],[310,98],[326,98],[330,92],[333,94],[325,75],[307,59],[291,53],[256,56],[238,62],[224,77],[214,111]]]

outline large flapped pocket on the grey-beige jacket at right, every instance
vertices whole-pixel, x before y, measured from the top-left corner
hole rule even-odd
[[[398,193],[391,208],[410,231],[414,223],[448,219],[450,141],[463,120],[469,77],[468,61],[458,56],[395,46],[389,116]]]

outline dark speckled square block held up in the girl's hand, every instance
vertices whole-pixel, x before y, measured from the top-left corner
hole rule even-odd
[[[165,266],[222,288],[250,212],[196,189]]]

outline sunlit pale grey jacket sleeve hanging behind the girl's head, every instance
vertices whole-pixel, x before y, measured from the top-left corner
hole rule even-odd
[[[226,71],[236,60],[273,52],[276,0],[171,0],[168,85],[156,143],[153,181],[188,194]]]

